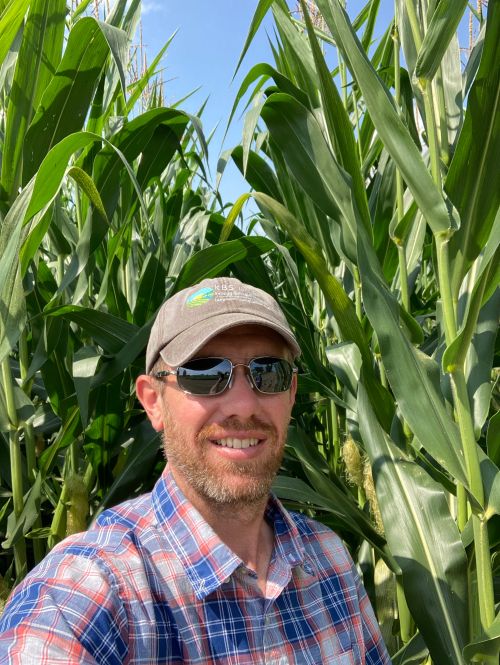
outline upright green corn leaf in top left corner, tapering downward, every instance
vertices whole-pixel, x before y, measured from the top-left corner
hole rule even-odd
[[[65,13],[65,0],[36,0],[26,19],[9,95],[2,150],[1,184],[11,200],[19,187],[26,130],[61,59]]]

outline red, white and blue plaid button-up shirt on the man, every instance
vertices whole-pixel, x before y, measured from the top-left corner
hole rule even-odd
[[[17,587],[0,665],[386,665],[340,539],[271,497],[267,592],[175,484],[101,514]]]

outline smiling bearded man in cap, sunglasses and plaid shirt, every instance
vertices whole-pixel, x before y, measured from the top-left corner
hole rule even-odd
[[[1,665],[390,662],[339,538],[270,494],[299,353],[275,300],[236,279],[166,301],[137,379],[165,471],[17,588]]]

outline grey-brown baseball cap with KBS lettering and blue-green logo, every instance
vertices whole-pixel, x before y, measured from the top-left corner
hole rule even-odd
[[[212,337],[244,324],[275,330],[294,357],[300,355],[297,340],[272,296],[233,277],[216,277],[179,291],[160,307],[146,350],[146,372],[159,356],[178,367]]]

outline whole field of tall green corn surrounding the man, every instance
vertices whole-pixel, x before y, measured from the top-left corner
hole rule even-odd
[[[276,494],[345,540],[395,665],[498,663],[500,2],[395,0],[376,39],[380,4],[255,3],[227,202],[138,0],[0,0],[0,604],[152,487],[155,312],[232,274],[302,348]]]

